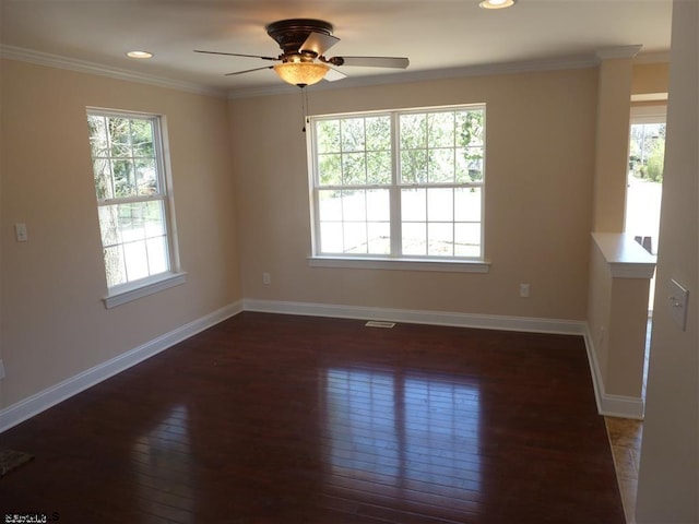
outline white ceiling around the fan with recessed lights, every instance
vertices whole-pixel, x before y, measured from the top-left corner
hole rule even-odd
[[[4,55],[38,51],[73,61],[245,93],[284,87],[253,58],[193,49],[277,56],[265,33],[289,17],[332,23],[341,38],[328,56],[408,57],[407,70],[343,68],[339,84],[405,80],[439,70],[590,58],[600,49],[642,45],[670,49],[672,0],[519,0],[510,9],[478,0],[0,0]],[[126,58],[131,49],[154,53]],[[454,71],[450,71],[450,74]],[[393,78],[399,80],[398,76]],[[285,86],[293,88],[292,86]]]

